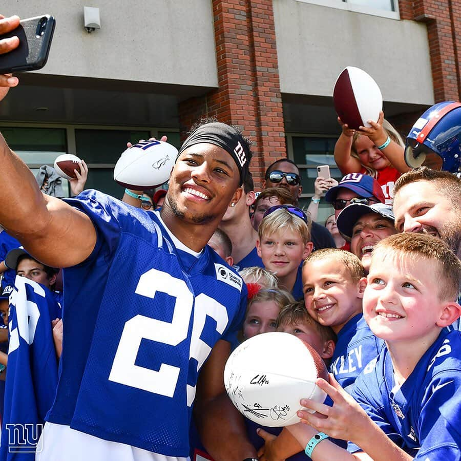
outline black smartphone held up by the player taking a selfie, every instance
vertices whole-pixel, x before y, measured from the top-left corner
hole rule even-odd
[[[20,21],[20,25],[3,38],[19,37],[19,46],[9,53],[0,54],[0,74],[25,72],[45,66],[50,52],[55,20],[44,14]]]

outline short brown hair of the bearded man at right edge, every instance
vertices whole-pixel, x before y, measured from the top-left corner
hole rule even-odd
[[[393,195],[411,182],[429,181],[436,185],[442,195],[447,196],[457,209],[461,209],[461,179],[448,171],[431,170],[427,166],[420,166],[404,173],[395,181]]]

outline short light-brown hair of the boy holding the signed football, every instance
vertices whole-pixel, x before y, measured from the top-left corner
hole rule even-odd
[[[371,266],[376,254],[386,252],[386,250],[410,258],[424,258],[432,263],[438,262],[434,276],[439,281],[439,300],[454,301],[457,299],[459,288],[461,288],[461,261],[442,240],[431,235],[411,232],[391,235],[374,247]]]

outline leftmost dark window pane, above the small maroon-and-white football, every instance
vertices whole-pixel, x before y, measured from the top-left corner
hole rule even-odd
[[[14,151],[67,151],[65,129],[0,126],[0,131]]]

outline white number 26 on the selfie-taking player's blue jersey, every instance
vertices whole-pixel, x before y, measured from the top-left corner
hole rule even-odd
[[[172,321],[164,322],[137,315],[125,322],[109,381],[173,397],[179,378],[179,367],[162,363],[156,371],[135,365],[135,361],[142,339],[177,346],[187,338],[194,297],[184,280],[157,269],[150,269],[139,278],[135,292],[153,299],[157,291],[176,298]],[[202,293],[195,298],[189,352],[190,358],[197,360],[198,369],[211,351],[211,348],[200,340],[206,316],[212,317],[217,322],[216,330],[222,334],[228,322],[226,308]],[[189,406],[192,405],[194,397],[195,386],[187,385],[187,404]]]

